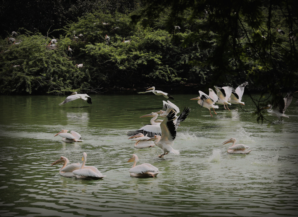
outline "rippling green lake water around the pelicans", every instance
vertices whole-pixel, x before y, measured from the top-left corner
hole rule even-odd
[[[281,123],[257,123],[254,105],[220,105],[211,117],[191,98],[174,95],[182,111],[173,148],[136,149],[126,136],[148,124],[139,118],[162,109],[153,94],[90,95],[92,105],[75,100],[58,106],[66,96],[0,96],[0,216],[297,216],[298,106],[294,99]],[[254,95],[257,98],[257,95]],[[213,113],[213,111],[212,111]],[[54,137],[61,129],[81,134],[83,142]],[[231,137],[248,145],[247,155],[228,154]],[[107,177],[82,180],[59,175],[60,156],[70,163],[97,167]],[[161,173],[134,178],[127,163],[132,154]]]

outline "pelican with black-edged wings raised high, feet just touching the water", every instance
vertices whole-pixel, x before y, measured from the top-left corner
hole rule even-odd
[[[179,154],[180,151],[172,148],[174,144],[174,139],[176,138],[176,127],[173,122],[175,117],[175,112],[171,111],[167,117],[164,118],[162,123],[160,124],[160,128],[162,129],[162,136],[155,135],[154,137],[148,139],[147,141],[154,141],[154,144],[161,148],[164,153],[160,154],[158,157],[162,158],[165,154]]]

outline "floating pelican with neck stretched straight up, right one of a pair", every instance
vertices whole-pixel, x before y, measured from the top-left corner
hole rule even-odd
[[[101,174],[97,168],[93,166],[85,167],[86,157],[87,154],[86,152],[84,152],[82,157],[83,163],[81,165],[81,168],[72,171],[72,173],[75,174],[78,179],[102,179],[103,177],[106,177],[105,175]]]

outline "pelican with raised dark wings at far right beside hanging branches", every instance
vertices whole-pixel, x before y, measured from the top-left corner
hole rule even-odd
[[[289,117],[285,115],[285,110],[289,107],[292,102],[293,92],[288,92],[283,100],[280,100],[279,103],[274,106],[272,109],[272,105],[264,106],[260,109],[267,109],[267,112],[275,117],[278,117],[279,121],[283,120],[283,117]]]

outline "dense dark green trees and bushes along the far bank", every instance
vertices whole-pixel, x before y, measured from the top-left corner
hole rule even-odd
[[[207,92],[247,80],[251,90],[279,96],[297,87],[295,1],[42,2],[30,3],[44,13],[40,20],[23,9],[15,19],[31,20],[2,22],[7,26],[0,41],[1,94],[165,84]],[[51,6],[57,10],[49,13]],[[50,47],[53,38],[56,47]],[[80,63],[83,68],[76,67]]]

